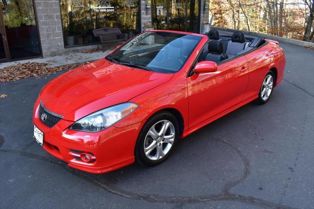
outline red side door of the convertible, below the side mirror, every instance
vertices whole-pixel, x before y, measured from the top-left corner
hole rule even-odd
[[[218,65],[215,73],[188,77],[189,128],[241,103],[248,85],[248,72],[247,60],[241,56]]]

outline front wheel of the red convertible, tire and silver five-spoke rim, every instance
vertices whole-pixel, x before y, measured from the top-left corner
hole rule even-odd
[[[166,130],[162,131],[161,128]],[[136,162],[144,166],[160,164],[177,144],[179,134],[177,118],[170,112],[162,111],[153,115],[138,135],[134,151]]]

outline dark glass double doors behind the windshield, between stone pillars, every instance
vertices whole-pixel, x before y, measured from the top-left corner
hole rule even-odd
[[[153,26],[157,30],[198,32],[199,0],[152,0]]]

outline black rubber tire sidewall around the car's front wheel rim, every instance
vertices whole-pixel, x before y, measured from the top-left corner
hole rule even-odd
[[[145,153],[144,153],[144,149],[143,149],[144,141],[145,141],[146,134],[152,128],[152,126],[161,120],[168,120],[173,124],[173,126],[175,128],[175,140],[174,140],[174,143],[173,143],[171,149],[169,150],[169,152],[164,157],[162,157],[159,160],[151,160],[151,159],[147,158]],[[136,162],[138,162],[141,165],[146,165],[146,166],[154,166],[154,165],[160,164],[170,155],[170,153],[174,149],[174,147],[177,144],[177,141],[179,139],[179,134],[180,134],[179,123],[178,123],[176,117],[174,115],[172,115],[170,112],[162,111],[162,112],[159,112],[159,113],[153,115],[151,118],[149,118],[146,121],[145,125],[143,126],[143,128],[140,131],[138,138],[136,140],[136,145],[135,145],[135,150],[134,150]]]

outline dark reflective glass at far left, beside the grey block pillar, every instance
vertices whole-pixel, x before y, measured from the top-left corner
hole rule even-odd
[[[41,56],[33,0],[0,0],[0,3],[1,33],[6,34],[7,43],[2,38],[6,58],[18,60]]]

